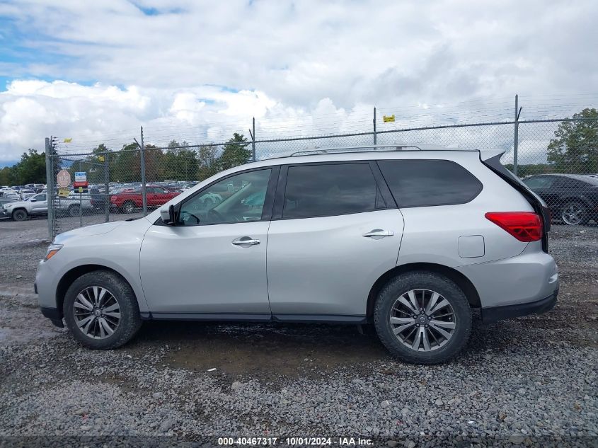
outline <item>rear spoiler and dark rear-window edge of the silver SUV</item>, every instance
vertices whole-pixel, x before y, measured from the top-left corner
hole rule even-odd
[[[502,180],[511,185],[515,190],[527,199],[534,212],[542,217],[544,223],[544,236],[542,236],[542,249],[548,253],[548,231],[551,229],[551,213],[546,206],[546,202],[541,199],[536,193],[531,191],[517,176],[511,173],[505,166],[500,163],[502,154],[505,154],[504,149],[493,149],[491,151],[480,151],[480,160],[485,166],[488,166],[491,171],[496,173]]]

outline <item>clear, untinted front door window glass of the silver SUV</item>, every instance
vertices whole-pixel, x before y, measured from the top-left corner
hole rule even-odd
[[[248,171],[210,185],[183,202],[178,225],[259,221],[271,171]]]

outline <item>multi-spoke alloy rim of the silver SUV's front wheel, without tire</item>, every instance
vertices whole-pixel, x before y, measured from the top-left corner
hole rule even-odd
[[[73,304],[75,323],[84,335],[105,339],[120,325],[120,304],[114,294],[99,286],[87,287]]]

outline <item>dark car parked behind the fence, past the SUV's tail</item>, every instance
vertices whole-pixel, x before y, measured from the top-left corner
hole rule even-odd
[[[553,219],[575,226],[598,222],[598,178],[578,174],[529,176],[523,183],[551,209]]]

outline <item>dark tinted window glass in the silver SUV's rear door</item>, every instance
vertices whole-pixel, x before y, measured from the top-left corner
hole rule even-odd
[[[289,166],[283,218],[334,216],[384,207],[369,163]]]

